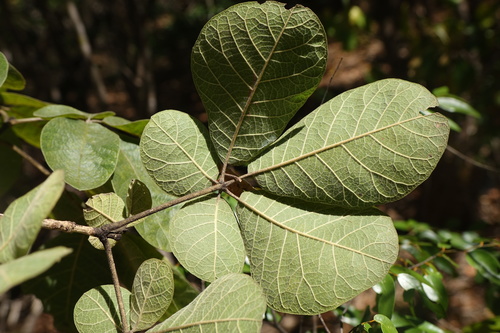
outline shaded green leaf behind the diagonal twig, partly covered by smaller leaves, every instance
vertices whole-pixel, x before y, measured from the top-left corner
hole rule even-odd
[[[152,206],[174,199],[165,193],[149,176],[140,157],[139,146],[130,142],[120,142],[120,154],[116,170],[111,179],[113,189],[123,200],[128,195],[128,186],[133,179],[139,179],[147,185],[153,200]],[[151,245],[159,249],[170,251],[168,243],[168,221],[177,212],[180,205],[162,210],[156,214],[141,219],[142,223],[135,225],[139,234]]]

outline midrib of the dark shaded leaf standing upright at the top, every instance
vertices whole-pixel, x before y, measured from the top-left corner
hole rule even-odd
[[[294,9],[295,8],[292,8],[290,10],[290,13],[286,19],[286,22],[283,24],[283,28],[281,29],[278,37],[276,38],[276,41],[273,45],[273,48],[272,50],[269,52],[269,56],[267,57],[266,61],[264,62],[264,66],[262,67],[260,73],[259,73],[259,76],[257,77],[257,80],[255,81],[255,83],[253,84],[252,86],[252,89],[251,89],[251,92],[250,92],[250,95],[248,96],[247,98],[247,101],[245,103],[245,106],[243,107],[243,110],[242,110],[242,113],[240,115],[240,119],[238,120],[238,123],[236,124],[236,128],[234,130],[234,134],[233,134],[233,138],[231,139],[231,143],[229,144],[229,147],[228,147],[228,150],[227,150],[227,154],[226,154],[226,158],[224,159],[224,164],[222,166],[222,171],[221,171],[221,174],[220,174],[220,177],[219,177],[219,181],[223,181],[224,180],[224,177],[225,177],[225,174],[226,174],[226,168],[227,168],[227,165],[229,163],[229,160],[231,158],[231,153],[233,151],[233,147],[236,143],[236,139],[238,138],[238,134],[239,134],[239,131],[241,129],[241,126],[243,125],[243,120],[246,118],[247,116],[247,112],[248,110],[250,109],[250,105],[252,104],[252,100],[255,96],[255,93],[257,91],[257,88],[262,80],[262,77],[264,76],[264,73],[266,71],[266,68],[267,66],[269,65],[269,63],[271,62],[271,58],[273,57],[274,55],[274,52],[276,50],[276,47],[281,39],[281,37],[283,36],[283,33],[284,31],[286,30],[286,27],[288,25],[288,22],[290,21],[290,18],[292,17],[293,15],[293,12],[294,12]],[[257,47],[256,47],[257,48]]]

